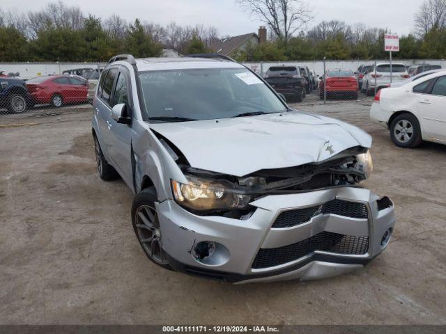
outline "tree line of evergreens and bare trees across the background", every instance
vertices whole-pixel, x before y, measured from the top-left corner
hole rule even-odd
[[[302,0],[236,0],[265,22],[268,42],[234,54],[238,61],[304,61],[387,57],[388,29],[339,20],[305,29],[312,10]],[[246,32],[241,32],[246,33]],[[210,51],[222,36],[213,26],[161,26],[118,15],[84,15],[77,6],[49,3],[42,10],[14,13],[0,8],[0,61],[107,61],[115,54],[160,56],[162,49],[180,54]],[[414,31],[400,38],[395,58],[445,58],[446,0],[425,0],[414,17]]]

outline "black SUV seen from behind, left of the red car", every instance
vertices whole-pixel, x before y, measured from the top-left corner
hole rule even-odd
[[[287,102],[302,102],[306,80],[296,66],[270,67],[264,77],[277,93],[283,94]]]

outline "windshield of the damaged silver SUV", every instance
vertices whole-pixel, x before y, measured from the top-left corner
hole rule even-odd
[[[286,111],[268,86],[245,68],[150,71],[139,78],[148,118],[210,120]]]

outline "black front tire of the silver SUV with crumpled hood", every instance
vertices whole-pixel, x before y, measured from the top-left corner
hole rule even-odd
[[[151,260],[153,263],[157,264],[158,266],[164,269],[173,270],[170,267],[169,262],[167,262],[166,253],[162,249],[162,235],[160,232],[160,221],[157,219],[157,214],[155,209],[155,202],[157,201],[158,199],[156,190],[155,187],[153,186],[144,189],[143,191],[138,193],[137,196],[134,196],[134,200],[132,203],[133,230],[137,236],[141,248],[144,250],[144,253],[146,253],[148,257],[148,260]],[[148,212],[150,212],[151,214],[148,214]],[[143,215],[145,219],[142,219],[141,215]],[[143,223],[144,221],[147,221],[148,224]],[[154,228],[154,230],[148,228],[149,225],[151,225]],[[157,240],[156,248],[154,247],[155,241],[144,242],[144,240],[154,237],[156,237],[155,240]],[[150,246],[148,244],[150,244]],[[151,249],[153,250],[153,253],[151,253]],[[155,254],[157,252],[159,252],[159,254]]]

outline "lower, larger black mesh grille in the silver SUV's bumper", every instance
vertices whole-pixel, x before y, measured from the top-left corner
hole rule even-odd
[[[316,250],[330,253],[363,255],[369,250],[369,237],[321,232],[295,244],[279,248],[261,248],[252,264],[253,269],[275,267],[298,260]]]

